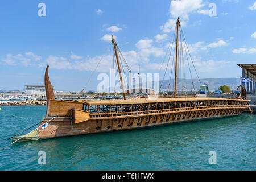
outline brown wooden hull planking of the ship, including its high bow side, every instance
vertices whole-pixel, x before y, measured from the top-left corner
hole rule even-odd
[[[61,104],[59,104],[61,102]],[[69,102],[66,104],[63,101],[52,102],[56,107],[51,107],[51,115],[59,114],[58,118],[49,122],[45,129],[39,128],[30,136],[23,137],[19,141],[49,139],[56,137],[66,137],[71,135],[103,133],[109,131],[143,129],[146,127],[156,127],[171,125],[174,123],[191,122],[204,119],[213,119],[220,117],[228,117],[241,114],[248,108],[248,105],[225,105],[225,106],[199,106],[191,108],[176,108],[167,110],[143,111],[142,113],[112,113],[100,114],[102,117],[93,117],[93,114],[82,111],[82,103]],[[69,109],[68,109],[69,108]],[[79,113],[76,117],[79,122],[76,122],[73,117],[76,110],[85,112],[85,115]],[[84,113],[82,113],[84,114]],[[108,115],[108,117],[106,117]],[[115,116],[114,116],[115,115]],[[85,117],[82,121],[82,117]],[[95,115],[94,115],[95,116]],[[50,118],[44,118],[43,123]],[[20,137],[14,137],[13,140]]]

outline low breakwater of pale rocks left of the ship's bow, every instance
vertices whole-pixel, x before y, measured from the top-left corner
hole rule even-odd
[[[46,100],[0,101],[0,106],[44,106]]]

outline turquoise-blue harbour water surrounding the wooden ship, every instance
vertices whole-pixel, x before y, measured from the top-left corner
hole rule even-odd
[[[40,122],[46,106],[0,106],[0,147]],[[11,115],[17,116],[16,118]],[[151,129],[14,143],[0,170],[255,170],[256,114]],[[38,164],[39,151],[46,164]],[[217,154],[210,165],[209,151]]]

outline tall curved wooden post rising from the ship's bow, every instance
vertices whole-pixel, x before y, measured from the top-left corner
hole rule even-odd
[[[49,81],[48,76],[48,69],[49,66],[46,67],[46,73],[44,75],[44,86],[46,87],[46,100],[47,100],[47,109],[46,109],[46,117],[49,117],[50,115],[50,102],[51,100],[54,100],[54,92],[52,88],[51,81]]]

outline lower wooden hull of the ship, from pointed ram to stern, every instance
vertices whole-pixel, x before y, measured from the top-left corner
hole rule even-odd
[[[184,110],[172,113],[155,113],[153,115],[133,115],[131,117],[93,118],[77,124],[74,124],[72,119],[69,121],[67,119],[63,119],[62,121],[61,119],[53,119],[45,129],[39,127],[39,129],[33,131],[30,135],[13,137],[13,140],[19,139],[18,142],[24,142],[28,140],[50,139],[74,135],[147,129],[150,127],[236,116],[241,114],[245,109],[246,107],[243,109],[239,107],[239,109]],[[42,122],[42,125],[43,123],[44,122]]]

